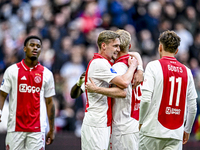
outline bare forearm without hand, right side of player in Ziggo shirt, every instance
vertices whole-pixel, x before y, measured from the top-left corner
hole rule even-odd
[[[55,105],[52,98],[46,99],[47,116],[49,120],[50,131],[54,131],[54,119],[55,119]]]

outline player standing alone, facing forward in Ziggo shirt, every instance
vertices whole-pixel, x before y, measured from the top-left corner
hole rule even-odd
[[[6,149],[45,149],[54,140],[55,95],[53,74],[38,62],[42,41],[29,36],[24,41],[25,59],[8,67],[0,87],[0,112],[9,95]],[[1,117],[1,115],[0,115]]]

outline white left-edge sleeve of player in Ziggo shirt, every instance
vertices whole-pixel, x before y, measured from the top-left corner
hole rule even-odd
[[[11,90],[11,69],[10,67],[6,69],[4,75],[3,75],[3,80],[1,83],[0,90],[4,91],[5,93],[10,93]]]

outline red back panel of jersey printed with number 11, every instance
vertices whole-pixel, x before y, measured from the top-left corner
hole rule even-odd
[[[168,129],[177,129],[184,122],[187,70],[183,64],[172,57],[163,57],[159,62],[163,71],[163,94],[158,121]]]

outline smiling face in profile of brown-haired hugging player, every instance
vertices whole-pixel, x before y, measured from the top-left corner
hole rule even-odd
[[[111,41],[109,44],[106,45],[106,56],[109,60],[117,59],[118,53],[120,51],[120,40],[116,38],[114,41]]]

